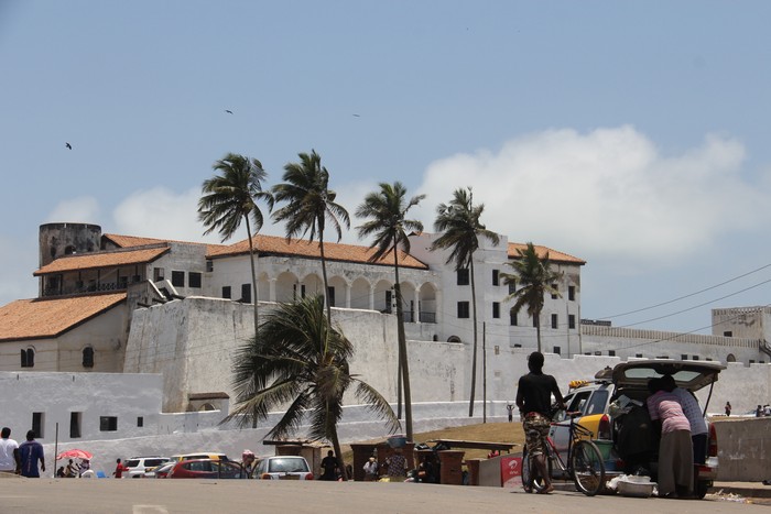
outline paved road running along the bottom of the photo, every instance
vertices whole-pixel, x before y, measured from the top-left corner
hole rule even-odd
[[[0,480],[1,513],[763,513],[730,501],[587,497],[521,490],[412,483],[260,480]]]

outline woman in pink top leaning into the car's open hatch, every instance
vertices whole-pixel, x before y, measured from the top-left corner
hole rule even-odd
[[[648,412],[651,419],[661,420],[659,442],[659,496],[693,495],[694,460],[691,424],[674,393],[665,391],[661,379],[648,382]]]

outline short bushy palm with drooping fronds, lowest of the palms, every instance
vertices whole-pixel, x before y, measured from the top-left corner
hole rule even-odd
[[[379,417],[387,429],[400,428],[386,398],[349,372],[354,346],[324,316],[324,297],[308,296],[279,304],[263,316],[258,333],[236,352],[234,391],[237,403],[225,422],[240,427],[265,419],[271,411],[285,408],[267,437],[284,438],[308,425],[314,440],[332,442],[345,470],[337,424],[343,416],[343,395],[356,384],[355,395]]]

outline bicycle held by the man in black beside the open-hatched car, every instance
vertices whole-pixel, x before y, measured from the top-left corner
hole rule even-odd
[[[588,440],[594,436],[591,430],[576,423],[575,417],[580,415],[579,412],[567,413],[571,424],[565,459],[552,438],[546,437],[546,467],[551,479],[573,480],[578,491],[594,496],[605,485],[605,462],[597,445]],[[546,486],[533,459],[525,445],[522,451],[522,485],[526,492],[540,492]]]

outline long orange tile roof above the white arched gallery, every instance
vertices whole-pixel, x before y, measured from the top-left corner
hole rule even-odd
[[[256,238],[257,249],[260,254],[272,254],[272,255],[298,255],[298,256],[310,256],[321,259],[322,253],[319,250],[318,241],[306,241],[304,239],[293,239],[292,241],[286,241],[286,238],[280,238],[275,236],[262,236],[258,234]],[[210,252],[208,256],[225,256],[225,255],[238,255],[249,252],[249,240],[245,239],[230,247],[219,248]],[[369,258],[374,253],[374,250],[370,250],[367,247],[361,247],[357,244],[341,244],[341,243],[324,243],[324,256],[329,261],[341,261],[341,262],[360,262],[370,263]],[[392,254],[388,254],[377,261],[371,262],[371,264],[377,265],[393,265]],[[404,267],[415,267],[419,270],[427,270],[428,266],[423,262],[419,261],[412,255],[409,255],[402,251],[399,252],[399,265]]]

